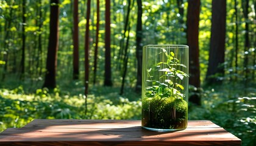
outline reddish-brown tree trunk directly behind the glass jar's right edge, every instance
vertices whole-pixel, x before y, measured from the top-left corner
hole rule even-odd
[[[199,15],[200,0],[188,0],[187,13],[187,43],[190,47],[190,85],[200,87],[200,67],[199,67]],[[199,96],[191,96],[190,101],[200,105]]]

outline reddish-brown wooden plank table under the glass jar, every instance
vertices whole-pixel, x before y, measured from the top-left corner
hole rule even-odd
[[[241,145],[241,140],[209,120],[193,120],[172,133],[148,131],[140,120],[35,119],[7,128],[0,145]]]

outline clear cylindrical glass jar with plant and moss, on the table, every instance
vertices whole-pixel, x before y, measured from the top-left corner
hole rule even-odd
[[[141,126],[178,131],[188,122],[188,46],[143,47]]]

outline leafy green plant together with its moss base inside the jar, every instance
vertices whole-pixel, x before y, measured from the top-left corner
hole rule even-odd
[[[184,87],[180,82],[188,74],[180,68],[187,68],[179,63],[174,52],[162,49],[165,62],[159,62],[155,70],[160,77],[154,80],[152,68],[147,70],[146,92],[142,103],[142,126],[154,129],[182,130],[187,127],[188,103],[184,100]]]

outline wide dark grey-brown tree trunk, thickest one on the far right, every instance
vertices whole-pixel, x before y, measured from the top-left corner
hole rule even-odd
[[[226,0],[212,1],[212,29],[210,39],[209,63],[206,75],[208,84],[220,83],[215,75],[224,75]]]

